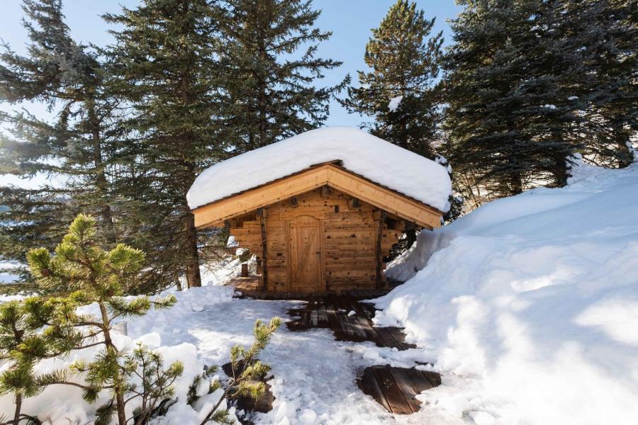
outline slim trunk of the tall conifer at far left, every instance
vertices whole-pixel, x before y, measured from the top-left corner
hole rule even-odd
[[[93,101],[87,103],[89,109],[89,125],[91,126],[91,139],[93,142],[93,162],[96,171],[96,187],[102,199],[100,215],[103,221],[103,234],[108,244],[116,244],[116,229],[113,222],[113,212],[109,205],[107,196],[108,181],[104,174],[104,164],[102,159],[102,140],[100,135],[100,123],[95,113],[95,104]]]

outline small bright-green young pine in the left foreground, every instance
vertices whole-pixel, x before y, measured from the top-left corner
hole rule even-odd
[[[27,259],[31,273],[43,289],[60,294],[43,302],[47,312],[52,312],[46,321],[46,334],[55,337],[60,353],[71,349],[101,346],[94,361],[77,362],[71,371],[55,370],[40,376],[40,385],[74,385],[84,390],[83,397],[95,402],[101,390],[110,390],[111,399],[98,409],[100,423],[108,423],[116,413],[118,424],[126,424],[125,395],[134,392],[128,382],[130,375],[138,370],[140,358],[127,356],[113,341],[113,325],[126,317],[139,317],[152,306],[167,308],[177,301],[174,295],[161,300],[123,297],[140,281],[140,269],[144,254],[124,244],[111,251],[104,251],[96,242],[96,220],[78,215],[69,227],[69,233],[56,247],[55,254],[45,248],[29,251]],[[99,314],[80,314],[77,307],[96,303]],[[38,304],[39,306],[39,304]],[[41,316],[38,311],[33,314]],[[142,356],[143,357],[143,356]],[[159,360],[158,360],[159,361]],[[157,368],[161,369],[161,365]],[[183,367],[172,365],[166,371],[167,379],[181,374]],[[84,382],[74,382],[74,373],[83,373]]]

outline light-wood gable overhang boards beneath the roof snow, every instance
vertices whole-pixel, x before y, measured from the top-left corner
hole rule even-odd
[[[339,164],[340,162],[318,164],[262,186],[202,205],[193,210],[195,225],[220,227],[224,225],[225,220],[325,185],[422,227],[433,229],[441,225],[443,213],[436,208],[354,174]]]

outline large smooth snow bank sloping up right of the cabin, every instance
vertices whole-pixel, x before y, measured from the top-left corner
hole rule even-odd
[[[470,424],[634,423],[637,217],[638,164],[579,164],[422,232],[376,300],[443,375],[419,398]]]

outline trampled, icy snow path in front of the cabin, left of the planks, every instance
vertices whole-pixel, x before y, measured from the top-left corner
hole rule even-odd
[[[157,328],[139,331],[159,331],[162,345],[194,344],[203,363],[222,365],[228,362],[231,346],[252,343],[256,319],[279,316],[286,321],[288,310],[296,306],[293,301],[234,299],[183,314],[179,328],[184,330],[179,333]],[[291,332],[282,324],[261,356],[272,366],[274,379],[269,383],[276,399],[271,412],[258,414],[257,424],[423,424],[427,419],[432,424],[459,423],[427,408],[408,416],[389,414],[355,383],[357,370],[367,365],[412,366],[420,356],[419,350],[398,352],[371,342],[335,341],[328,329]]]

